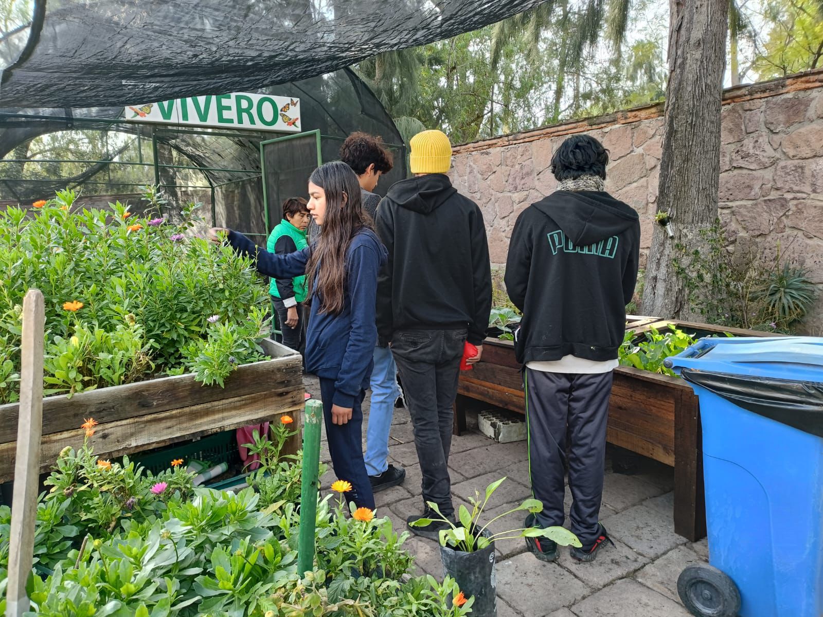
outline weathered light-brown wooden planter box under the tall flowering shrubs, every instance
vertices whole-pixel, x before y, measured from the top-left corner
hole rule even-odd
[[[92,444],[95,455],[103,458],[277,421],[284,414],[292,415],[290,428],[298,430],[284,452],[297,452],[305,405],[300,354],[268,339],[261,346],[272,360],[240,366],[223,388],[202,386],[185,374],[81,392],[70,399],[44,398],[40,471],[47,471],[66,446],[81,445],[85,418],[100,423]],[[0,482],[14,479],[17,415],[17,403],[0,406]]]

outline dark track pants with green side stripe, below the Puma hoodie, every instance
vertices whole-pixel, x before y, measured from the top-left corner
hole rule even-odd
[[[543,503],[542,527],[563,525],[569,470],[571,531],[584,546],[597,540],[603,493],[606,421],[612,373],[543,373],[526,369],[528,466],[532,494]],[[567,436],[568,434],[568,443]]]

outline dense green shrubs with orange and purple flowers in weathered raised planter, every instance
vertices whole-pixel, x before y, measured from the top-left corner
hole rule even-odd
[[[197,205],[173,223],[156,188],[144,218],[76,199],[65,190],[0,211],[0,403],[18,397],[21,304],[33,287],[45,297],[47,395],[186,372],[222,386],[264,358],[267,292],[248,260],[186,234]]]

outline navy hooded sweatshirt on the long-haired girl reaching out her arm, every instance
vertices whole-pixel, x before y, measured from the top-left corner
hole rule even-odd
[[[273,278],[292,278],[305,274],[311,248],[277,255],[258,247],[236,231],[229,232],[235,252],[256,261],[257,270]],[[332,403],[346,409],[355,397],[369,387],[374,367],[372,356],[377,344],[374,307],[377,274],[387,259],[386,248],[377,235],[362,229],[351,239],[346,251],[346,288],[341,313],[322,313],[322,299],[314,286],[311,312],[306,330],[305,367],[307,373],[334,379]],[[323,264],[320,265],[323,267]]]

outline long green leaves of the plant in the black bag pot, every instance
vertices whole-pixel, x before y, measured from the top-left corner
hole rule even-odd
[[[476,491],[475,496],[469,498],[469,503],[472,504],[472,512],[469,512],[468,508],[461,504],[460,508],[458,508],[457,522],[459,524],[455,524],[447,517],[444,517],[443,514],[440,513],[438,505],[434,502],[429,502],[429,507],[434,510],[435,513],[439,514],[439,518],[420,518],[411,524],[413,527],[425,527],[435,521],[447,523],[449,528],[443,529],[439,532],[440,545],[451,546],[453,549],[460,550],[465,553],[473,553],[476,550],[485,549],[486,546],[490,545],[495,540],[509,540],[511,538],[545,537],[549,540],[554,540],[561,546],[581,546],[580,540],[578,540],[577,536],[564,527],[545,527],[543,529],[537,527],[521,527],[510,529],[508,531],[501,531],[496,534],[486,534],[486,528],[489,527],[492,522],[495,522],[511,513],[538,513],[543,510],[543,504],[541,501],[537,499],[526,499],[516,508],[512,508],[508,512],[504,512],[499,516],[492,518],[491,521],[481,526],[480,517],[483,513],[483,509],[486,508],[486,504],[489,503],[491,495],[494,494],[495,490],[497,490],[501,484],[503,484],[504,480],[505,477],[492,482],[491,485],[486,487],[486,492],[484,495],[481,495],[479,491]]]

